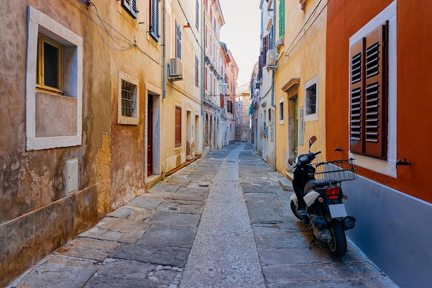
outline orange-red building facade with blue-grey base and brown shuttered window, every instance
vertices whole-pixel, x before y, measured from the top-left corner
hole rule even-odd
[[[337,0],[327,10],[326,155],[355,158],[360,175],[344,183],[357,218],[347,234],[400,287],[428,287],[432,6]]]

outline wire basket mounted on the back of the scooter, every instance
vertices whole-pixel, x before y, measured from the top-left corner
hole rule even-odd
[[[337,182],[355,180],[357,173],[354,159],[335,160],[314,163],[316,180],[333,180]]]

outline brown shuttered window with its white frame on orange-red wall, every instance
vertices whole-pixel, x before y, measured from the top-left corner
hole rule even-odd
[[[381,33],[380,31],[385,31],[384,34],[387,35],[387,37],[378,37]],[[373,37],[373,35],[377,36]],[[347,59],[347,65],[349,65],[349,67],[353,65],[350,68],[350,87],[348,90],[348,99],[350,100],[350,106],[348,107],[348,121],[350,124],[348,136],[350,142],[349,157],[355,158],[355,164],[357,164],[357,166],[384,175],[389,175],[391,177],[396,177],[396,1],[393,1],[389,6],[384,8],[384,10],[371,19],[371,21],[366,23],[365,26],[355,32],[355,34],[349,39],[349,48],[350,55],[349,59]],[[383,49],[385,49],[385,51]],[[369,55],[369,53],[371,53],[371,55]],[[379,56],[375,57],[374,55]],[[362,64],[357,65],[356,60],[358,57],[360,57],[360,59],[367,57],[369,64],[372,64],[372,66],[367,66],[368,64],[364,64],[365,66]],[[355,71],[355,68],[357,67],[358,72],[360,72],[360,75],[358,76],[356,76],[357,73]],[[386,75],[385,73],[381,73],[380,67],[384,69],[387,68],[386,70],[388,74]],[[371,73],[371,75],[368,73]],[[377,82],[380,84],[377,85]],[[361,83],[361,85],[357,87],[357,83]],[[366,90],[362,90],[362,88]],[[384,90],[382,90],[383,88]],[[366,93],[367,95],[362,93]],[[360,101],[360,103],[357,104],[357,98],[361,98],[362,95],[366,97],[364,101],[367,103]],[[386,101],[384,103],[386,108],[379,111],[376,110],[375,107],[377,107],[376,103],[380,101]],[[378,107],[379,106],[380,104],[378,104]],[[358,111],[358,113],[356,111]],[[357,115],[360,115],[360,117]],[[369,119],[368,117],[371,115],[375,115],[375,117]],[[378,124],[377,121],[380,123]],[[376,128],[377,126],[378,128],[384,128],[386,133],[381,136],[381,132]],[[378,148],[373,150],[372,147],[368,147],[372,144],[375,144],[374,146],[377,146]],[[380,153],[384,152],[384,154],[378,155],[375,153],[376,151]]]

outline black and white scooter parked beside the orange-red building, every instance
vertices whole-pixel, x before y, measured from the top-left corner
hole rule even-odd
[[[316,136],[309,139],[309,153],[298,155],[293,171],[288,176],[293,182],[295,194],[291,196],[291,210],[313,230],[315,243],[326,242],[331,253],[343,257],[346,253],[345,231],[353,229],[355,218],[348,216],[342,200],[348,199],[342,193],[341,182],[355,180],[354,160],[337,160],[312,164],[316,153],[311,152],[311,146],[317,141]]]

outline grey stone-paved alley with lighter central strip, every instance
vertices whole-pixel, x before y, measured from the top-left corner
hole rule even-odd
[[[282,177],[237,143],[170,175],[8,288],[397,287],[348,242],[308,249]]]

